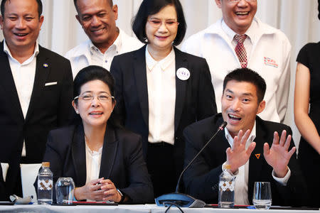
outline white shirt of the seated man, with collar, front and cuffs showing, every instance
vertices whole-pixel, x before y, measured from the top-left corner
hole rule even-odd
[[[245,143],[246,149],[248,148],[248,146],[250,146],[250,143],[252,143],[255,140],[255,137],[256,137],[256,122],[252,127],[252,131],[250,133],[249,138],[247,139],[247,142]],[[233,137],[230,135],[227,128],[225,128],[225,138],[227,138],[227,141],[230,144],[230,147],[233,147]],[[238,172],[236,172],[234,175],[235,175],[235,204],[249,205],[250,202],[248,200],[248,192],[247,192],[248,180],[249,180],[249,160],[247,160],[247,163],[245,163],[245,165],[240,166],[240,168],[238,169]],[[287,185],[290,175],[291,175],[291,171],[289,169],[287,175],[285,175],[284,178],[277,178],[274,176],[274,170],[272,170],[272,177],[281,185]]]

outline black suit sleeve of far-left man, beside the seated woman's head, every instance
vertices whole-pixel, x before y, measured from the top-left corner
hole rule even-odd
[[[60,100],[58,106],[58,126],[67,125],[73,117],[73,72],[71,70],[70,61],[65,62],[62,88],[60,89]]]

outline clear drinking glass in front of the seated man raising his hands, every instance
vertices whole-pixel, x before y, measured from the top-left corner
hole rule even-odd
[[[270,209],[272,202],[270,182],[255,182],[252,202],[256,209]]]

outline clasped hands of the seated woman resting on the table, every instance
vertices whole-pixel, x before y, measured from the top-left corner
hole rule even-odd
[[[115,187],[111,180],[99,178],[87,182],[87,184],[82,187],[75,188],[75,199],[119,202],[121,195],[119,195],[117,187]]]

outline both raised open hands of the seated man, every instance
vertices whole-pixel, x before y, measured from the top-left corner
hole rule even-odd
[[[272,166],[277,178],[284,178],[288,172],[288,163],[296,148],[293,147],[289,151],[290,141],[292,136],[287,136],[287,132],[282,131],[281,138],[275,131],[271,148],[268,143],[263,146],[263,155],[269,165]],[[231,171],[235,173],[238,168],[247,163],[252,151],[255,149],[256,143],[250,143],[250,146],[246,149],[245,143],[250,136],[250,130],[248,129],[244,134],[242,130],[239,131],[238,136],[233,138],[233,147],[227,148],[227,163],[231,165]]]

